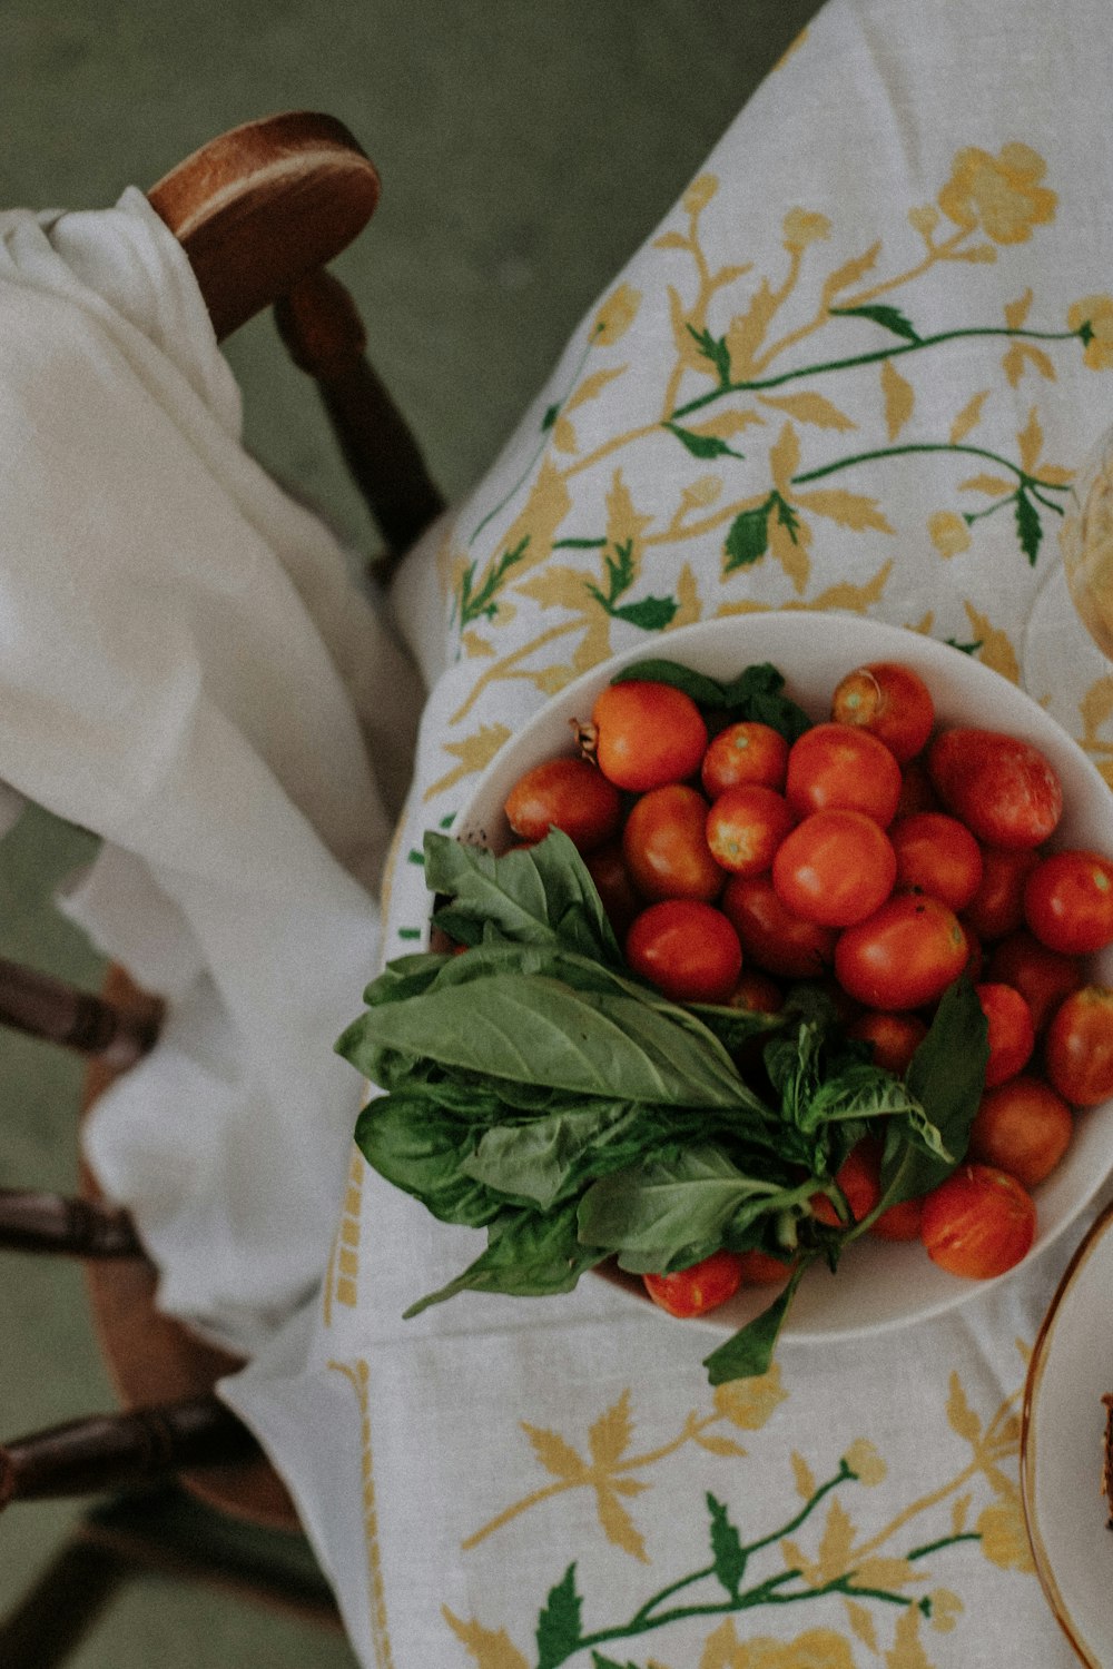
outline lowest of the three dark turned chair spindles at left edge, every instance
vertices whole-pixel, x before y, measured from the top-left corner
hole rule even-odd
[[[217,1397],[93,1414],[0,1447],[0,1509],[132,1489],[187,1467],[257,1459],[259,1444]]]

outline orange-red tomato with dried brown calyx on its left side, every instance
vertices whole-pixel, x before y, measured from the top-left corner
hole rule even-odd
[[[607,684],[592,708],[599,769],[637,794],[682,783],[699,771],[708,726],[691,696],[671,684]]]

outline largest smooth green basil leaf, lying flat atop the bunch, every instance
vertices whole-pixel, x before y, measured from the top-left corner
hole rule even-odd
[[[369,1008],[345,1033],[345,1056],[379,1082],[384,1051],[576,1095],[679,1107],[754,1100],[703,1026],[686,1030],[637,998],[551,978],[492,975]]]

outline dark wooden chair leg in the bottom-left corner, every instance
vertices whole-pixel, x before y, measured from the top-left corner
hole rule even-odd
[[[3,1669],[58,1669],[128,1576],[127,1561],[78,1530],[0,1619]]]

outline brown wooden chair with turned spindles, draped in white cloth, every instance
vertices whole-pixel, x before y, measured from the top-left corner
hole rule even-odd
[[[364,329],[324,270],[367,224],[379,175],[340,122],[290,112],[249,122],[202,147],[149,192],[179,237],[219,337],[267,305],[295,362],[319,384],[344,456],[385,537],[389,566],[442,507],[417,446],[364,357]],[[90,1058],[90,1102],[150,1048],[162,1005],[110,970],[93,996],[0,963],[0,1025]],[[103,1355],[125,1409],[0,1447],[8,1500],[100,1490],[189,1467],[210,1504],[259,1524],[295,1527],[279,1479],[212,1395],[235,1359],[202,1345],[155,1310],[155,1272],[125,1213],[82,1198],[0,1192],[0,1247],[87,1260]]]

